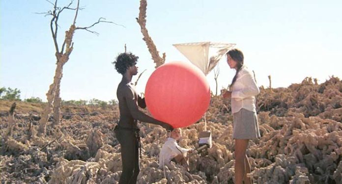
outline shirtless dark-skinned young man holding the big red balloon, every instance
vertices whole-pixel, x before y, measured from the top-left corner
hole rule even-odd
[[[160,125],[167,130],[172,126],[145,115],[139,107],[145,108],[145,100],[134,90],[132,76],[138,73],[136,66],[138,56],[132,53],[121,53],[113,62],[122,80],[117,87],[116,96],[119,101],[120,120],[114,129],[115,136],[121,145],[122,174],[119,184],[136,184],[139,168],[139,129],[137,120]]]

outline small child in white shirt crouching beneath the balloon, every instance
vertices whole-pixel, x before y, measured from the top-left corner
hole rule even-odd
[[[180,163],[189,170],[185,157],[188,152],[191,153],[193,150],[185,149],[178,145],[177,140],[179,140],[181,133],[180,128],[175,128],[171,131],[170,138],[165,141],[159,154],[160,168],[163,168],[164,165],[168,165],[170,161],[174,161],[175,163]]]

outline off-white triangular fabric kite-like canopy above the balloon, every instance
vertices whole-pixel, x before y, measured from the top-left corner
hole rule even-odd
[[[173,44],[191,63],[207,75],[235,44],[197,42]]]

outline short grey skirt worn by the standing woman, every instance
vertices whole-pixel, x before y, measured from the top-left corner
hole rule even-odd
[[[240,111],[233,114],[233,117],[233,138],[260,138],[259,125],[255,112],[240,109]]]

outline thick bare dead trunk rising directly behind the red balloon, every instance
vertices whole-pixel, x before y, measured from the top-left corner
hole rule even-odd
[[[146,42],[148,51],[151,53],[152,59],[154,63],[156,64],[155,68],[158,68],[159,66],[165,63],[166,54],[163,53],[163,58],[159,56],[159,51],[157,50],[157,47],[154,45],[151,37],[148,35],[148,31],[146,28],[146,8],[147,8],[147,1],[140,0],[139,18],[136,18],[136,19],[141,27],[142,36],[143,36],[142,40]]]

